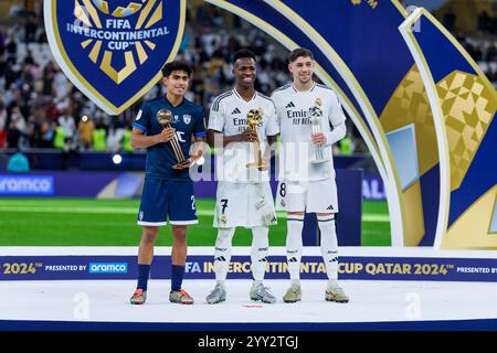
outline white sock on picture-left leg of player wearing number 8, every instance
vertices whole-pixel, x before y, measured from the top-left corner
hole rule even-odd
[[[297,282],[300,278],[304,215],[289,214],[286,224],[288,228],[286,235],[286,263],[288,264],[290,280]]]

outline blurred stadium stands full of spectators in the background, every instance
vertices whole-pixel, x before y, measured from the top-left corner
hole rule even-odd
[[[405,6],[416,2],[423,1],[403,1]],[[0,149],[121,150],[141,101],[113,117],[73,87],[53,62],[41,3],[1,1]],[[178,56],[193,66],[188,98],[208,113],[213,97],[233,84],[231,55],[242,46],[252,47],[258,56],[257,89],[268,95],[287,83],[283,46],[239,18],[202,3],[189,1],[188,26]],[[497,86],[495,1],[451,0],[433,12]],[[160,94],[161,86],[156,85],[144,99]],[[349,129],[353,153],[367,153],[357,130],[353,126]],[[340,153],[340,148],[336,152]]]

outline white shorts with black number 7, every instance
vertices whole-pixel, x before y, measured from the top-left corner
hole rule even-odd
[[[246,228],[276,224],[273,193],[265,183],[218,183],[214,227]]]

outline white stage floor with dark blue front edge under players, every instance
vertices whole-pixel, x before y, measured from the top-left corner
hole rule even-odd
[[[187,280],[193,306],[170,303],[169,280],[151,280],[144,306],[134,280],[7,281],[1,330],[443,330],[496,329],[497,284],[343,280],[349,303],[326,302],[326,281],[303,280],[303,300],[282,301],[288,281],[267,280],[275,304],[248,299],[250,280],[228,281],[228,301],[208,304],[212,280]]]

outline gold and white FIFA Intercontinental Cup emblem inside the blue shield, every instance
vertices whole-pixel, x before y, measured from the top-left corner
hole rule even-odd
[[[162,19],[162,1],[157,0],[75,0],[74,15],[84,25],[67,23],[67,31],[81,36],[86,55],[116,84],[142,65],[156,42],[169,34],[167,26],[152,28]],[[124,67],[117,68],[123,62]]]

